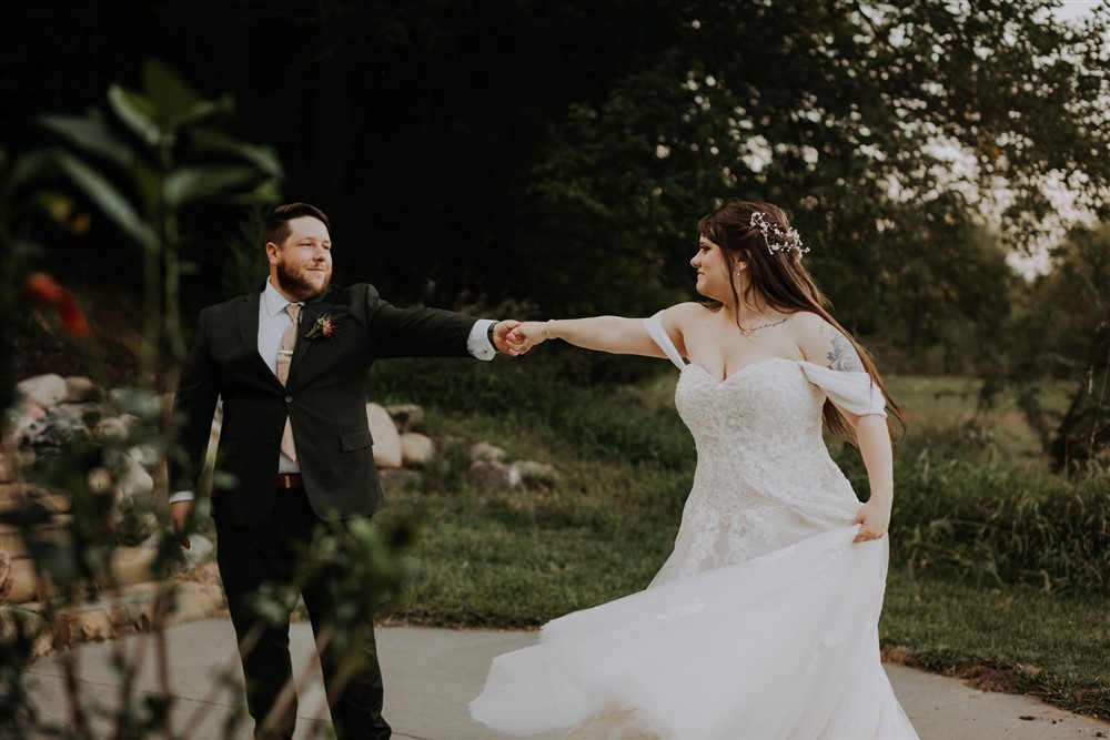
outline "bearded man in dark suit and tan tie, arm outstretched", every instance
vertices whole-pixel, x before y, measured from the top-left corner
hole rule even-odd
[[[332,286],[329,221],[312,205],[274,209],[264,241],[270,277],[263,290],[201,312],[174,398],[175,417],[183,419],[182,454],[171,456],[170,481],[179,493],[170,498],[170,517],[184,533],[222,398],[218,468],[233,483],[221,488],[218,480],[212,496],[220,576],[255,736],[290,738],[295,693],[279,701],[292,671],[289,614],[284,624],[262,622],[251,599],[260,588],[293,581],[321,523],[369,517],[383,506],[365,414],[370,366],[385,357],[490,359],[498,351],[516,355],[527,348],[508,339],[517,322],[402,311],[372,285]],[[317,638],[334,621],[326,581],[336,575],[301,589]],[[336,696],[329,691],[332,721],[340,738],[385,739],[391,730],[382,718],[372,625],[350,677],[340,671],[340,656],[321,656],[325,683],[341,689]]]

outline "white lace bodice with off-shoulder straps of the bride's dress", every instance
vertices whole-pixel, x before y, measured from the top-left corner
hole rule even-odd
[[[866,373],[761,359],[717,381],[687,365],[663,330],[646,327],[682,368],[675,405],[694,435],[697,470],[670,560],[655,584],[768,553],[847,524],[859,508],[821,436],[827,398],[854,414],[881,414]]]

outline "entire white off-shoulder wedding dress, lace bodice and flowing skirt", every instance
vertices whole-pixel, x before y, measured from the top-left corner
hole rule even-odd
[[[882,414],[881,393],[793,359],[718,382],[646,326],[697,446],[674,553],[646,590],[496,658],[472,716],[591,740],[917,738],[879,662],[887,539],[852,544],[860,504],[821,438],[826,397]]]

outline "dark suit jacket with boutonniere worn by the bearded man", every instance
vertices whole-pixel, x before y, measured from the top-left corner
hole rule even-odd
[[[434,308],[396,308],[372,285],[332,286],[305,302],[285,387],[259,355],[261,292],[201,312],[174,397],[178,420],[170,483],[198,490],[216,399],[223,425],[216,453],[212,516],[233,526],[261,524],[278,496],[286,416],[297,463],[317,516],[367,516],[383,506],[366,424],[367,371],[385,357],[468,356],[476,320]],[[322,316],[331,337],[305,338]],[[225,474],[230,474],[230,478]],[[231,480],[222,484],[221,479]]]

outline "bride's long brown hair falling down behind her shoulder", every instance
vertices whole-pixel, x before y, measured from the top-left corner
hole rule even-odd
[[[751,214],[761,212],[765,220],[771,226],[778,226],[784,232],[790,227],[786,212],[777,205],[770,203],[748,203],[735,201],[726,203],[713,213],[698,221],[697,227],[702,236],[720,247],[728,261],[728,272],[736,272],[738,262],[744,262],[748,267],[748,285],[744,290],[744,300],[751,298],[764,301],[776,311],[785,314],[793,314],[799,311],[809,311],[840,331],[851,346],[859,353],[859,359],[864,363],[864,369],[871,376],[871,382],[879,386],[882,396],[887,401],[887,408],[898,419],[906,432],[906,413],[887,393],[887,387],[882,384],[882,378],[875,368],[875,363],[870,355],[856,341],[829,312],[831,304],[828,298],[817,287],[809,271],[801,264],[800,255],[794,250],[777,250],[771,252],[767,245],[766,237],[758,226],[751,225]],[[736,305],[740,304],[740,296],[736,292],[736,284],[730,284],[733,300]],[[713,308],[719,308],[719,301],[707,301],[706,304]],[[737,325],[739,325],[739,314],[737,313]],[[844,417],[844,414],[833,404],[825,402],[821,409],[825,424],[839,437],[856,444],[856,435]],[[888,423],[888,427],[889,427]],[[895,435],[891,433],[891,440]]]

